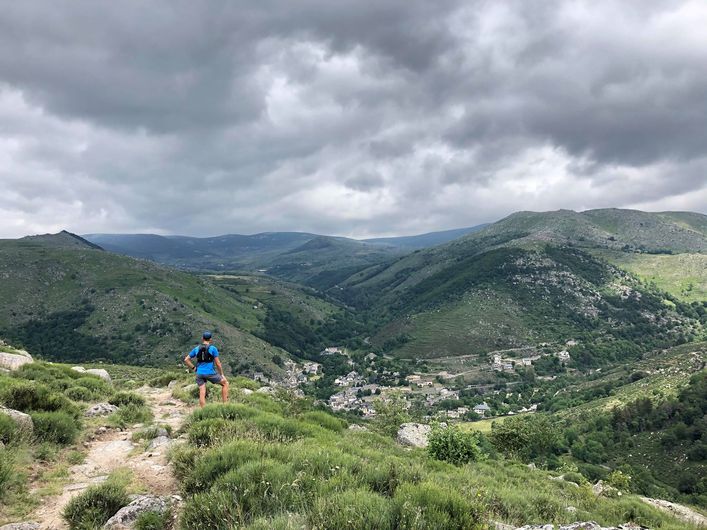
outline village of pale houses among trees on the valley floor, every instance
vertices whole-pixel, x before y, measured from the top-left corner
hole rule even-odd
[[[282,379],[270,380],[259,372],[254,378],[315,397],[334,412],[363,418],[374,418],[380,404],[396,401],[427,421],[476,421],[535,412],[537,403],[513,390],[519,384],[515,379],[532,373],[539,381],[554,380],[556,375],[535,376],[533,367],[549,363],[564,370],[571,359],[568,349],[576,345],[568,340],[563,347],[541,344],[537,349],[492,352],[481,366],[479,356],[465,356],[469,362],[473,357],[476,366],[461,373],[435,371],[425,363],[417,363],[420,370],[411,371],[409,361],[331,346],[315,356],[316,361],[285,361]],[[470,372],[483,374],[484,381],[469,382],[464,375]]]

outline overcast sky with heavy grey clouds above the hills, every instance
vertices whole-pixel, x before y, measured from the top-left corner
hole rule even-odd
[[[707,213],[704,0],[0,9],[0,237]]]

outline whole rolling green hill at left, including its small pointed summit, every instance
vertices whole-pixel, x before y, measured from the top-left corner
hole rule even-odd
[[[253,293],[239,293],[68,233],[1,241],[0,278],[0,336],[51,360],[174,365],[212,329],[232,368],[277,373],[272,359],[286,353],[256,336],[268,311],[296,305],[306,321],[338,311],[272,279],[244,277]]]

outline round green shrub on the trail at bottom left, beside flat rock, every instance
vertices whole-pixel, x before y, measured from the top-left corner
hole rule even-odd
[[[64,508],[63,517],[72,530],[100,528],[129,502],[125,487],[107,480],[71,499]]]

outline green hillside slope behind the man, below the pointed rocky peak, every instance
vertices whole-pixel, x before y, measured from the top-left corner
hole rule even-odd
[[[26,241],[0,245],[0,274],[0,328],[14,342],[31,342],[45,358],[53,357],[56,341],[68,340],[95,349],[82,347],[64,355],[67,360],[174,364],[203,329],[214,329],[219,346],[238,362],[277,370],[270,358],[279,350],[240,326],[241,319],[257,320],[257,310],[206,278],[90,248]],[[93,310],[78,329],[63,330],[62,337],[54,329],[43,343],[36,341],[28,321],[54,317],[60,323],[61,312],[86,304]]]

